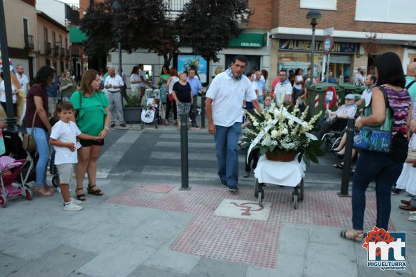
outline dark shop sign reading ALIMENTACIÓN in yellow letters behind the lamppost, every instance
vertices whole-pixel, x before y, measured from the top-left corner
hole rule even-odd
[[[311,41],[301,39],[279,39],[279,50],[311,52]],[[324,53],[324,42],[315,42],[315,51]],[[349,42],[333,42],[331,53],[354,54],[356,44]]]

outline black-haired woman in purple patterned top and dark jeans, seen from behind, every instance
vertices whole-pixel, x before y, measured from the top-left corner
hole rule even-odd
[[[356,172],[352,187],[352,229],[341,232],[343,238],[363,240],[365,211],[365,190],[376,180],[376,204],[378,228],[388,229],[390,218],[390,190],[399,178],[407,155],[407,120],[410,96],[404,89],[406,80],[400,58],[392,52],[380,55],[376,60],[378,83],[385,91],[388,104],[393,111],[392,145],[390,153],[362,151],[356,162]],[[356,127],[377,126],[385,120],[385,98],[379,87],[372,89],[372,114],[356,120]]]

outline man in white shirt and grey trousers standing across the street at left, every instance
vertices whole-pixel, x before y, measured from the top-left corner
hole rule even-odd
[[[123,115],[123,103],[121,102],[121,89],[124,87],[123,79],[116,75],[114,67],[108,67],[108,76],[105,78],[104,87],[107,89],[107,98],[110,103],[111,123],[110,127],[116,125],[116,117],[119,116],[120,126],[125,127]]]

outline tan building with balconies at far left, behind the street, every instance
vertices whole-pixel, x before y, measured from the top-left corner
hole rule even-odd
[[[53,66],[61,72],[71,69],[71,52],[67,28],[44,12],[37,11],[38,67]]]

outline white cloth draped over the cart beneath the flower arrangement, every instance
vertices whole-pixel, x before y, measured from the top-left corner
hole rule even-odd
[[[305,177],[306,167],[303,162],[294,161],[269,161],[266,156],[261,156],[254,170],[254,177],[259,183],[275,184],[279,186],[295,187]]]

